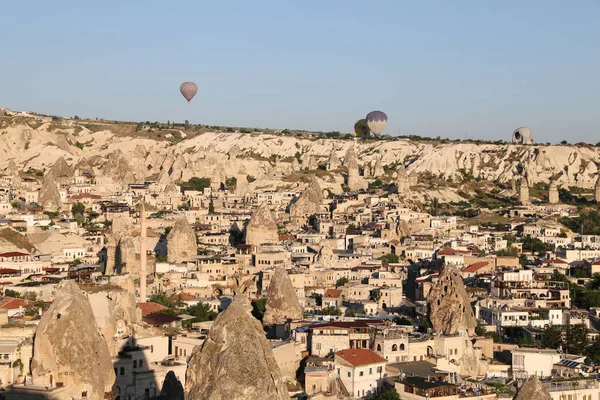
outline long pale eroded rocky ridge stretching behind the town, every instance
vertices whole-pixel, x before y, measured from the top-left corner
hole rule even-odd
[[[308,165],[343,169],[335,160],[331,162],[331,154],[343,158],[352,147],[359,166],[370,176],[382,172],[392,175],[391,171],[403,164],[408,174],[454,182],[481,178],[509,183],[516,175],[526,173],[530,185],[556,180],[562,187],[592,188],[600,160],[600,147],[592,146],[355,141],[136,129],[136,124],[126,123],[2,116],[0,168],[9,170],[16,165],[20,172],[38,173],[39,177],[41,171],[49,171],[59,160],[64,169],[63,158],[71,167],[92,169],[125,182],[158,178],[165,171],[175,182],[192,176],[211,176],[224,183],[230,177],[239,181],[251,176],[262,180],[254,182],[255,186],[276,182],[285,186],[283,177]],[[244,159],[244,163],[239,159]],[[330,179],[330,183],[339,189],[338,180]]]

